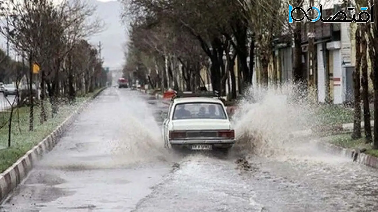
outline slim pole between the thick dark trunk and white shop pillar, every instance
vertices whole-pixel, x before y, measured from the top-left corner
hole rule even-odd
[[[310,0],[310,7],[314,6],[314,0]],[[310,10],[310,17],[315,19],[314,10]],[[316,65],[316,48],[315,48],[315,22],[308,23],[308,91],[315,90],[315,65]]]

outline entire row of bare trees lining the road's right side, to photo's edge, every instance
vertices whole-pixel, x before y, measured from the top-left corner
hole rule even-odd
[[[293,49],[294,83],[308,84],[308,70],[302,65],[302,31],[305,22],[288,24],[287,5],[307,8],[304,0],[123,0],[125,20],[130,21],[130,42],[125,53],[125,74],[132,73],[153,88],[169,88],[184,82],[184,89],[193,91],[203,86],[200,70],[210,70],[213,90],[229,94],[252,83],[254,63],[261,65],[260,86],[277,83],[273,71],[268,78],[274,42],[288,40]],[[341,8],[378,5],[378,0],[344,0]],[[296,11],[294,15],[301,11]],[[351,11],[349,11],[351,12]],[[349,13],[347,12],[347,13]],[[352,13],[359,11],[352,11]],[[368,11],[369,12],[369,11]],[[352,13],[349,14],[352,16]],[[378,20],[378,10],[374,11]],[[361,102],[367,143],[374,141],[378,149],[378,124],[370,130],[368,82],[373,83],[374,110],[378,108],[378,22],[353,23],[356,38],[355,130],[353,138],[361,137]],[[370,61],[370,63],[368,62]],[[370,65],[369,65],[370,64]],[[238,72],[235,72],[237,65]],[[273,68],[274,69],[274,68]],[[371,70],[370,76],[368,72]],[[181,77],[177,77],[180,75]],[[237,75],[238,77],[235,77]],[[146,77],[147,76],[147,77]],[[235,80],[239,80],[235,83]],[[273,80],[272,80],[273,79]],[[238,85],[239,88],[236,88]],[[361,91],[360,91],[361,90]],[[378,123],[378,113],[374,114]],[[373,138],[373,135],[374,136]]]

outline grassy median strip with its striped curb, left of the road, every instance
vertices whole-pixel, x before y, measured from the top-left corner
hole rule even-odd
[[[37,125],[34,131],[29,132],[25,129],[28,126],[27,116],[20,114],[20,129],[17,121],[13,124],[13,143],[11,147],[0,149],[0,203],[17,187],[31,171],[33,165],[45,152],[53,149],[59,138],[73,123],[76,117],[88,106],[96,96],[105,88],[96,90],[85,97],[77,98],[77,103],[70,106],[60,107],[60,112],[54,118],[41,125]],[[22,108],[21,108],[22,109]],[[27,109],[24,109],[28,111]],[[72,112],[73,111],[73,112]],[[14,114],[14,116],[16,116]],[[14,118],[17,119],[17,118]],[[35,114],[36,122],[39,122]],[[25,124],[26,123],[26,124]],[[0,130],[0,137],[4,137]],[[41,141],[42,140],[42,141]],[[3,141],[3,138],[2,138]]]

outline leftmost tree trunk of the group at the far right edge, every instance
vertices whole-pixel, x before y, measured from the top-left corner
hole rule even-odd
[[[361,138],[361,94],[360,94],[360,65],[361,65],[361,30],[357,28],[356,39],[356,66],[353,71],[354,84],[354,120],[352,139]]]

